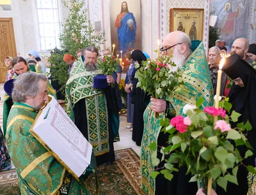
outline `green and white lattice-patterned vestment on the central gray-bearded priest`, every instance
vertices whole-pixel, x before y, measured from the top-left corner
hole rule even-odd
[[[86,71],[83,64],[77,61],[66,84],[65,111],[73,121],[74,105],[80,99],[85,99],[88,141],[93,146],[95,156],[109,152],[106,96],[102,90],[93,88],[93,77],[100,73],[99,70]]]

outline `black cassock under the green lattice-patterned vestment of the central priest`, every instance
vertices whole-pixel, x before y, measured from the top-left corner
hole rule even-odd
[[[113,146],[113,128],[111,126],[111,120],[113,113],[118,113],[122,108],[122,99],[120,96],[120,90],[118,84],[115,86],[109,86],[104,89],[106,95],[107,108],[108,108],[108,136],[109,136],[109,152],[102,155],[96,156],[97,166],[104,163],[113,163],[115,161],[115,152]],[[96,105],[97,106],[97,105]],[[75,124],[77,128],[83,133],[84,137],[88,140],[88,128],[87,128],[87,117],[86,117],[86,105],[85,100],[80,99],[73,108],[75,114]]]

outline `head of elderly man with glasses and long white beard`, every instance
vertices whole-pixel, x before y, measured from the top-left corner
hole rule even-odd
[[[172,55],[172,61],[177,66],[173,67],[173,71],[182,68],[187,57],[190,54],[191,40],[189,36],[182,31],[173,31],[167,34],[163,40],[163,47],[160,49],[162,55]]]

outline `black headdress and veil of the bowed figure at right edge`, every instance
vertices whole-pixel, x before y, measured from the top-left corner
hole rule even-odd
[[[229,102],[232,103],[232,110],[241,113],[239,122],[247,120],[256,128],[256,70],[239,55],[234,54],[228,57],[223,71],[232,79],[240,77],[244,87],[232,85],[228,94]]]

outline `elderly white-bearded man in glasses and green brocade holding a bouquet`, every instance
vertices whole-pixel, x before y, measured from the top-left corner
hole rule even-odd
[[[211,106],[213,101],[213,90],[211,83],[211,75],[205,57],[204,45],[200,43],[195,52],[191,54],[191,41],[184,32],[170,32],[163,41],[161,52],[163,55],[172,55],[172,61],[177,66],[173,67],[173,71],[178,68],[182,69],[182,80],[187,89],[188,94],[179,94],[175,92],[172,98],[166,99],[150,99],[150,104],[144,113],[144,131],[141,143],[141,186],[145,194],[196,194],[197,185],[195,182],[189,182],[191,175],[186,175],[186,167],[180,167],[178,164],[175,168],[179,168],[179,172],[173,172],[173,180],[170,182],[163,175],[157,175],[156,179],[150,174],[156,169],[152,165],[151,154],[148,145],[153,141],[157,141],[157,151],[161,147],[168,145],[168,134],[161,131],[160,120],[165,115],[169,119],[175,115],[184,115],[182,108],[186,104],[196,105],[196,100],[200,97],[204,98],[203,107]],[[154,117],[154,112],[163,113]],[[161,159],[161,152],[157,152],[157,157]],[[157,168],[164,167],[164,161],[158,164]],[[157,170],[161,171],[161,170]]]

